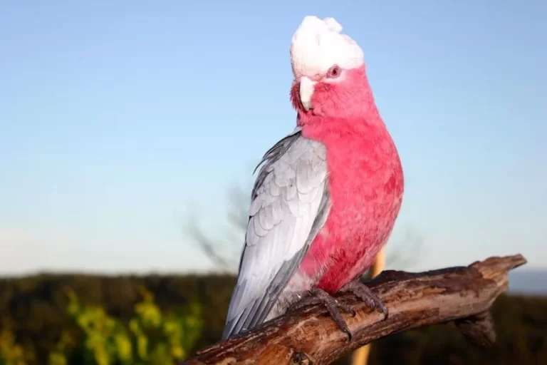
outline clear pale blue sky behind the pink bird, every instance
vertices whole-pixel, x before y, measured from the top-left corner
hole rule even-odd
[[[540,0],[2,1],[0,274],[211,269],[184,222],[222,238],[229,189],[293,129],[288,49],[306,15],[365,52],[405,170],[392,252],[418,237],[415,269],[516,252],[547,267],[545,14]]]

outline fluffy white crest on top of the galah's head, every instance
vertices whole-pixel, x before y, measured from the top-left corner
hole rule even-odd
[[[320,75],[334,65],[345,69],[363,65],[363,50],[341,31],[342,26],[333,18],[306,16],[291,43],[294,76]]]

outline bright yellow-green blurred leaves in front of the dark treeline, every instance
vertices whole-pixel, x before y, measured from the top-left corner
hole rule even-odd
[[[196,300],[164,313],[154,294],[140,287],[142,301],[135,304],[134,317],[125,324],[103,307],[80,303],[72,289],[65,292],[66,312],[79,331],[61,329],[59,340],[49,351],[48,365],[176,364],[191,354],[202,334],[202,306]],[[0,364],[26,365],[34,359],[32,349],[16,343],[10,327],[2,329]]]

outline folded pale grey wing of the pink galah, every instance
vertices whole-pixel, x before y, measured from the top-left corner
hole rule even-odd
[[[262,163],[223,339],[264,322],[330,209],[322,143],[297,128]]]

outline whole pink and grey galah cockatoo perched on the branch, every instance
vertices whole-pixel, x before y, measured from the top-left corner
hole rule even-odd
[[[323,304],[351,338],[336,292],[387,317],[358,281],[392,232],[403,194],[397,148],[378,113],[363,51],[333,18],[293,35],[296,129],[264,155],[223,339],[289,308]]]

